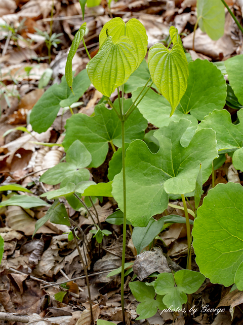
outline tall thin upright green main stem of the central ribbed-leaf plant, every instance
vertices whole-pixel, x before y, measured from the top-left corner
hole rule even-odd
[[[123,311],[123,322],[125,320],[124,308],[124,270],[125,270],[125,252],[126,252],[126,233],[127,233],[127,198],[126,198],[126,172],[125,172],[125,121],[121,121],[121,140],[123,152],[123,255],[121,257],[121,283],[120,283],[120,296],[121,296],[121,309]]]

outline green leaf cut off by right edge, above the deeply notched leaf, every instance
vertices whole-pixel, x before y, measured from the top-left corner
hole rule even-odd
[[[235,55],[224,62],[228,79],[241,105],[243,105],[243,54]]]

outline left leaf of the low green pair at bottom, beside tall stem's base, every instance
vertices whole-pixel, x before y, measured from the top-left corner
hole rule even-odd
[[[157,308],[166,309],[162,302],[163,297],[157,295],[156,300],[154,299],[155,291],[152,286],[148,286],[144,282],[130,282],[129,287],[136,300],[141,302],[136,310],[139,314],[136,320],[152,317],[156,314]]]

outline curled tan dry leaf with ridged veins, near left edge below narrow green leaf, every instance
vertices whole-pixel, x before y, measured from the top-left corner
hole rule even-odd
[[[21,207],[9,206],[6,212],[6,224],[13,230],[23,232],[26,236],[33,235],[36,220],[31,218]],[[38,234],[51,234],[52,231],[47,226],[42,226]]]

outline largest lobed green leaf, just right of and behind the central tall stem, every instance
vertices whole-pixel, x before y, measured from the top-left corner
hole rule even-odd
[[[183,194],[195,189],[201,163],[203,182],[212,172],[212,161],[218,156],[215,132],[202,129],[196,133],[189,146],[180,144],[189,121],[158,129],[154,136],[160,148],[156,154],[140,140],[133,141],[126,151],[127,218],[134,226],[146,226],[149,218],[168,207],[168,193]],[[198,143],[200,145],[198,145]],[[123,211],[122,173],[113,180],[112,194]]]

